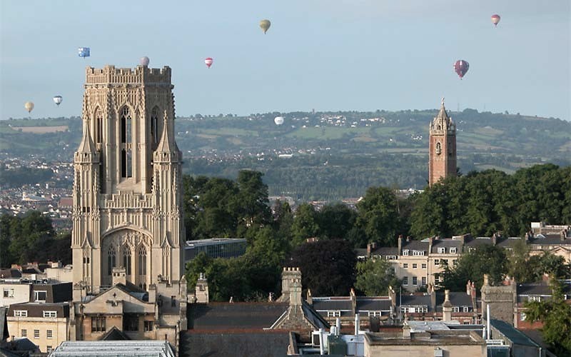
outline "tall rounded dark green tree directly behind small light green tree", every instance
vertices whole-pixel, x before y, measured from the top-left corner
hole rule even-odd
[[[370,187],[357,203],[357,224],[365,231],[368,241],[394,245],[397,236],[398,208],[395,193],[386,187]]]

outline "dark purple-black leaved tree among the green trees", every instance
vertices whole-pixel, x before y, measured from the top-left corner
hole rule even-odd
[[[315,296],[345,296],[353,286],[356,262],[350,242],[333,239],[298,246],[288,264],[300,268],[303,286]]]

